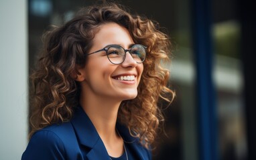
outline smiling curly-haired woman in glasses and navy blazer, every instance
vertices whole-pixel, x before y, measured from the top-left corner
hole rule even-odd
[[[114,3],[81,9],[44,36],[21,159],[151,159],[170,101],[168,36]]]

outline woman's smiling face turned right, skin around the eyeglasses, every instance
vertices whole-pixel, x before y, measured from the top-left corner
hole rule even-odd
[[[101,25],[92,44],[88,53],[113,44],[129,49],[134,42],[127,29],[117,23],[107,23]],[[81,71],[84,81],[80,85],[85,95],[97,99],[123,101],[137,96],[143,63],[137,63],[127,52],[125,61],[115,65],[109,61],[105,51],[99,51],[88,55],[88,61]]]

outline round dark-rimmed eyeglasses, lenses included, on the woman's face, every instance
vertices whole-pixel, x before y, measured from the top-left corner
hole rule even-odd
[[[115,65],[119,65],[125,61],[127,51],[131,54],[131,57],[133,57],[137,63],[142,63],[146,57],[146,48],[147,47],[139,44],[133,45],[130,49],[124,49],[120,45],[108,45],[99,51],[105,51],[109,61]],[[88,55],[98,53],[99,51],[94,51]]]

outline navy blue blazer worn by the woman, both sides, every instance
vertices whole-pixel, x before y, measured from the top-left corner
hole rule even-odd
[[[117,129],[136,159],[151,159],[151,151],[131,137],[126,127],[117,123]],[[109,155],[94,125],[79,107],[70,121],[34,133],[21,159],[109,160]]]

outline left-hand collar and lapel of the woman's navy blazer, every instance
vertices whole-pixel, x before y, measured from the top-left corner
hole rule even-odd
[[[89,160],[109,159],[109,155],[101,137],[82,107],[76,109],[74,117],[71,119],[71,123],[74,127],[78,143],[90,148],[90,151],[86,153],[86,157]]]

